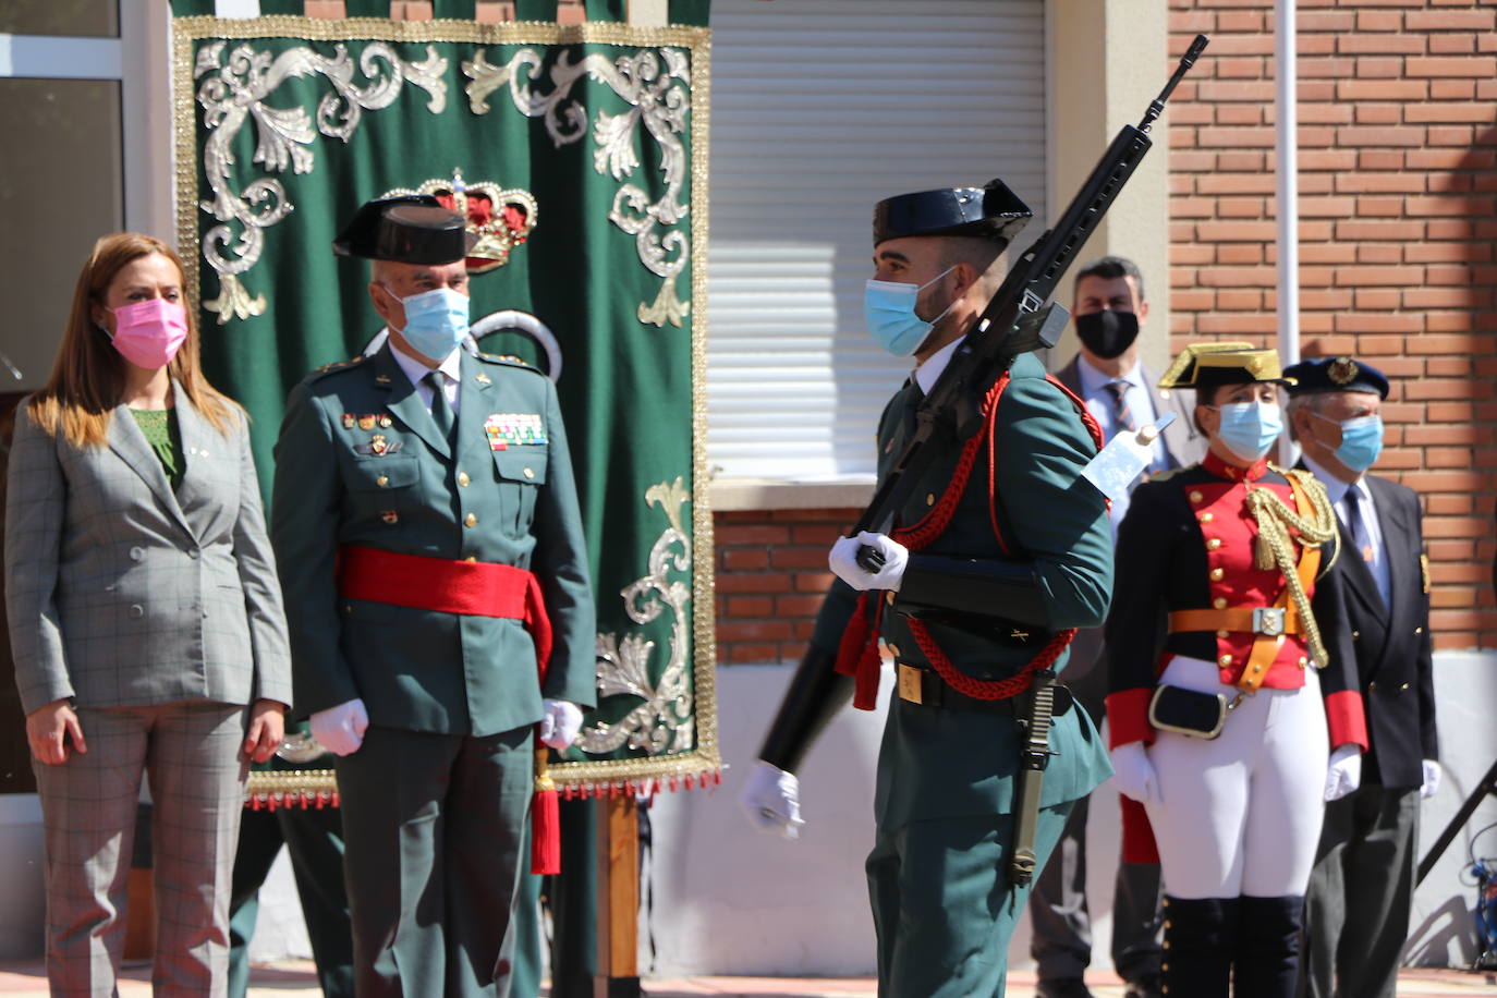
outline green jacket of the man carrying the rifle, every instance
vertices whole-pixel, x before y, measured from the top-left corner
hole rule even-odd
[[[1051,631],[1097,627],[1106,618],[1112,594],[1112,531],[1100,492],[1079,479],[1096,453],[1075,405],[1045,380],[1045,370],[1030,355],[1010,368],[1012,380],[998,402],[993,429],[997,461],[997,522],[1013,560],[1028,563],[1045,594]],[[879,473],[904,449],[913,431],[912,394],[906,386],[879,422]],[[897,525],[907,527],[940,498],[957,467],[961,447],[955,438],[912,489]],[[987,459],[979,458],[967,489],[946,531],[925,554],[994,558],[1004,555],[988,516]],[[883,596],[879,593],[870,596]],[[858,593],[837,582],[822,606],[813,643],[835,655]],[[925,666],[907,618],[883,615],[883,639],[898,649],[898,660]],[[1003,616],[1003,607],[993,607]],[[1045,645],[1049,633],[1031,634],[1025,645],[928,624],[952,664],[979,679],[1004,679],[1022,669]],[[1055,669],[1064,667],[1063,654]],[[1064,681],[1064,675],[1061,675]],[[1040,806],[1087,796],[1112,768],[1091,718],[1072,709],[1055,718],[1049,735],[1055,753],[1045,771]],[[909,821],[975,814],[1007,814],[1019,763],[1019,738],[1012,717],[981,711],[942,709],[891,699],[879,751],[874,817],[880,829]]]

